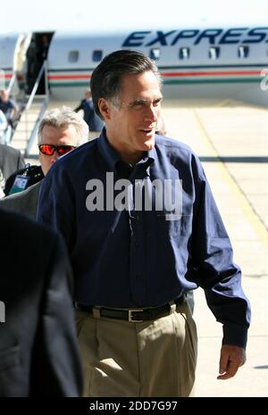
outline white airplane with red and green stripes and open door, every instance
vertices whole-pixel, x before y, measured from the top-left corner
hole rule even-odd
[[[29,95],[46,60],[38,94],[47,88],[50,101],[79,101],[96,65],[117,49],[136,49],[155,60],[164,99],[268,104],[268,27],[263,26],[0,35],[0,82],[2,73],[5,85],[13,79]]]

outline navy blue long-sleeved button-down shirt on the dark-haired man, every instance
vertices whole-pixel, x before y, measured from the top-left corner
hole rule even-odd
[[[156,306],[202,286],[223,323],[223,343],[245,346],[250,309],[240,270],[204,170],[187,145],[155,136],[155,148],[130,168],[104,129],[54,163],[43,180],[38,220],[67,242],[78,303]]]

